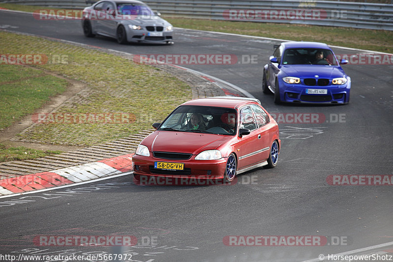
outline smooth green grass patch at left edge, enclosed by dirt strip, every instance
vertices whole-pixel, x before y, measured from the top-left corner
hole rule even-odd
[[[22,65],[0,65],[0,130],[64,92],[67,81]]]

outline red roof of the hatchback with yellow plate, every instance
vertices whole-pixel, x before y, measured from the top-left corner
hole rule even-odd
[[[236,108],[246,104],[260,104],[259,100],[245,97],[210,97],[188,101],[182,105],[203,105]]]

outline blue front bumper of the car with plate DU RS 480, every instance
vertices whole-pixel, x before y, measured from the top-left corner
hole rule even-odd
[[[279,79],[280,100],[294,103],[345,104],[349,102],[351,79],[343,85],[309,86],[303,81],[300,84],[288,84]],[[327,94],[308,94],[308,89],[326,89]]]

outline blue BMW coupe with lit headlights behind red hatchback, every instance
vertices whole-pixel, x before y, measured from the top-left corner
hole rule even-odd
[[[323,43],[285,42],[275,46],[263,69],[262,91],[274,102],[346,104],[351,78],[332,49]]]

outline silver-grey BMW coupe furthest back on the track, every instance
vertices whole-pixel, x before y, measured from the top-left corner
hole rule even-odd
[[[101,0],[83,10],[84,35],[96,34],[128,42],[172,43],[173,26],[149,6],[135,0]]]

